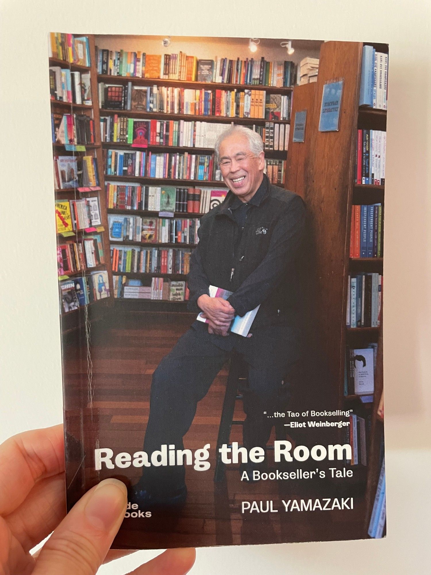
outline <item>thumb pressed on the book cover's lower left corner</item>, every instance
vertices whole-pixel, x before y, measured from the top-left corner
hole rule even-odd
[[[74,505],[40,551],[33,575],[94,575],[120,528],[127,489],[106,479]]]

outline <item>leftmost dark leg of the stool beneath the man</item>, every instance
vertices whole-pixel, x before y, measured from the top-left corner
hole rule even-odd
[[[220,417],[220,426],[218,428],[217,447],[216,447],[216,469],[214,470],[214,481],[222,481],[225,476],[225,466],[221,461],[221,454],[218,449],[224,443],[229,443],[230,428],[232,427],[233,412],[235,409],[235,400],[238,389],[239,362],[236,355],[232,355],[230,360],[230,369],[228,382],[226,384],[225,398]]]

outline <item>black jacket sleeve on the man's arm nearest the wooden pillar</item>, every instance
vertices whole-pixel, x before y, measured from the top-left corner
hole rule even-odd
[[[305,214],[302,198],[294,196],[275,225],[264,259],[228,298],[238,315],[244,316],[265,301],[294,262],[303,239]]]

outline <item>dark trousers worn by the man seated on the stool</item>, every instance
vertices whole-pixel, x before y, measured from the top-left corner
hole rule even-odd
[[[206,326],[202,328],[206,330]],[[183,436],[193,422],[198,401],[206,396],[230,356],[229,350],[214,344],[202,328],[188,329],[153,374],[144,439],[144,451],[149,455],[160,450],[161,444],[184,448]],[[265,447],[274,425],[274,419],[267,415],[280,411],[286,403],[290,373],[301,357],[299,332],[274,325],[256,330],[251,338],[235,334],[228,338],[230,344],[224,347],[236,350],[248,366],[248,386],[243,396],[244,446]],[[203,447],[208,441],[201,439]],[[183,466],[144,467],[141,481],[153,489],[174,489],[183,484],[184,472]]]

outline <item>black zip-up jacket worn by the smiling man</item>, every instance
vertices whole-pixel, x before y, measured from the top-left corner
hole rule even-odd
[[[228,301],[240,316],[261,304],[253,331],[271,324],[294,325],[301,313],[297,266],[305,204],[292,191],[272,185],[266,175],[253,198],[244,228],[233,215],[236,197],[231,191],[201,218],[187,277],[188,309],[198,312],[197,299],[214,285],[233,292]]]

